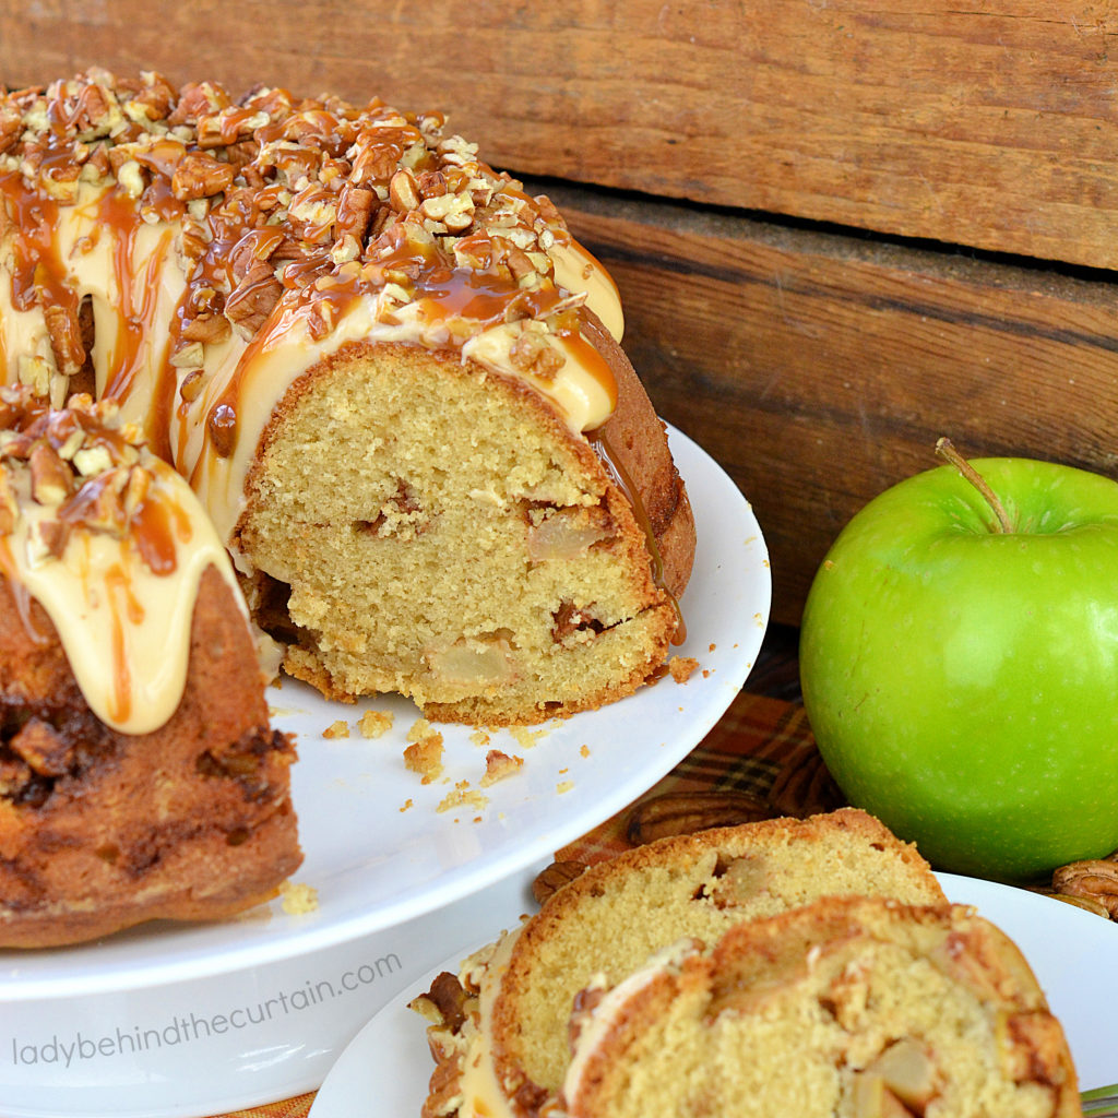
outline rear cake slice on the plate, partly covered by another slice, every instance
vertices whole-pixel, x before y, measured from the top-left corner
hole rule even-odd
[[[853,808],[673,836],[590,866],[418,1001],[436,1060],[424,1118],[533,1118],[562,1087],[580,991],[680,939],[713,942],[828,894],[946,900],[913,847]]]

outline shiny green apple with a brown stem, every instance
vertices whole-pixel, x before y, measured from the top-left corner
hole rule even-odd
[[[970,465],[1005,523],[951,465],[871,501],[812,584],[800,682],[852,804],[937,869],[1026,881],[1118,849],[1118,483]]]

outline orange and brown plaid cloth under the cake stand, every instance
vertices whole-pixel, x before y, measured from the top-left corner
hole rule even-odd
[[[627,849],[635,807],[678,793],[738,793],[774,815],[837,807],[841,796],[823,767],[799,704],[741,692],[705,738],[634,805],[556,852],[557,861],[596,862]],[[732,798],[732,797],[731,797]],[[228,1118],[305,1118],[313,1092],[238,1110]]]

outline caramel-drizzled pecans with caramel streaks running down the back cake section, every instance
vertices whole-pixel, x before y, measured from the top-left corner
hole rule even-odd
[[[558,310],[563,300],[569,299],[569,293],[553,282],[553,267],[548,265],[534,290],[522,284],[521,272],[515,268],[513,274],[509,272],[512,266],[509,254],[519,249],[511,249],[514,241],[508,239],[510,227],[502,221],[517,212],[517,207],[522,207],[529,226],[534,219],[540,228],[539,215],[543,214],[542,220],[549,222],[547,227],[556,244],[569,249],[575,243],[561,219],[546,199],[529,198],[514,180],[494,176],[484,164],[463,162],[470,157],[463,155],[454,144],[447,151],[442,145],[436,150],[443,123],[437,114],[401,116],[379,101],[363,108],[332,98],[295,103],[282,89],[264,91],[235,106],[220,87],[211,85],[183,87],[178,94],[179,108],[171,112],[174,91],[158,76],[148,79],[143,87],[124,83],[120,89],[112,84],[98,84],[106,80],[111,83],[111,76],[98,72],[92,77],[79,77],[75,83],[53,86],[45,98],[49,131],[30,141],[32,150],[28,165],[34,168],[32,177],[26,179],[13,171],[4,174],[3,186],[13,199],[17,227],[21,230],[17,238],[20,245],[13,276],[16,305],[23,310],[37,302],[42,305],[55,302],[76,320],[77,295],[53,236],[58,227],[59,203],[46,197],[42,183],[50,179],[65,181],[74,188],[76,197],[78,184],[73,178],[82,160],[97,163],[100,158],[98,165],[106,174],[110,162],[116,168],[125,155],[133,160],[133,167],[141,167],[145,176],[142,193],[132,197],[119,182],[111,180],[98,202],[98,218],[113,234],[113,264],[121,293],[121,305],[116,307],[117,338],[108,368],[98,370],[98,382],[104,385],[102,395],[125,400],[139,390],[141,380],[150,381],[148,395],[151,399],[141,401],[143,407],[136,410],[155,417],[146,426],[153,448],[161,456],[172,456],[163,435],[170,416],[177,410],[184,416],[189,410],[183,406],[177,408],[178,377],[171,366],[171,353],[183,343],[186,324],[199,314],[220,315],[227,297],[222,293],[236,295],[241,304],[250,304],[256,294],[264,294],[277,278],[285,292],[299,293],[299,305],[306,310],[312,339],[329,333],[337,321],[340,302],[359,294],[376,294],[387,283],[402,283],[409,297],[421,303],[421,318],[427,328],[423,344],[433,343],[433,332],[439,334],[436,344],[456,347],[495,322],[553,318],[551,330],[563,339],[569,351],[577,349],[579,364],[606,388],[612,401],[616,400],[616,385],[608,364],[580,338],[577,316]],[[154,102],[144,100],[146,93],[153,91],[169,97],[154,115],[148,112]],[[12,103],[31,105],[34,94],[29,91],[12,95]],[[126,96],[136,96],[150,120],[165,120],[168,124],[176,124],[176,130],[168,132],[164,129],[163,135],[153,136],[134,123],[133,115],[133,122],[114,131],[115,140],[86,144],[83,154],[77,134],[96,124],[106,97],[114,95],[122,104]],[[187,104],[189,107],[180,113]],[[260,124],[260,119],[265,123]],[[189,131],[183,131],[183,122]],[[145,142],[140,143],[140,140]],[[120,159],[117,152],[112,152],[113,146],[123,146],[124,154]],[[222,149],[227,161],[222,161]],[[224,182],[229,182],[228,177],[233,181],[224,193],[220,187],[215,197],[207,193],[201,199],[205,216],[190,219],[196,229],[206,230],[205,236],[192,233],[188,244],[183,233],[181,247],[190,273],[186,278],[187,292],[177,307],[165,352],[148,354],[143,342],[152,334],[158,276],[154,265],[150,264],[136,303],[130,283],[135,267],[136,231],[142,221],[161,221],[177,227],[184,218],[183,199],[196,196],[189,186],[180,186],[177,176],[184,162],[191,160],[201,161]],[[353,199],[363,190],[364,196],[372,199],[376,214],[381,217],[391,214],[398,208],[395,195],[390,208],[385,195],[389,192],[389,180],[405,165],[409,168],[410,189],[419,191],[407,205],[417,208],[397,215],[398,220],[390,217],[382,234],[370,233],[366,252],[359,259],[362,267],[347,272],[347,265],[335,265],[331,252],[333,237],[347,228],[342,222],[360,212]],[[421,178],[424,174],[432,176],[430,182],[437,184],[420,183],[416,176]],[[477,174],[482,178],[471,178]],[[133,174],[133,187],[135,179]],[[350,180],[362,184],[357,195],[338,189],[339,183]],[[423,206],[428,198],[439,197],[440,190],[451,196],[462,190],[466,182],[475,193],[475,184],[482,186],[485,199],[479,200],[479,206],[492,207],[494,214],[504,217],[493,229],[486,224],[487,217],[471,218],[472,228],[465,230],[464,236],[448,237],[444,245],[438,235],[427,233],[430,221]],[[373,189],[382,192],[375,195]],[[434,193],[429,192],[432,190]],[[302,210],[296,207],[296,199],[302,200]],[[307,216],[307,207],[312,215],[314,212],[312,203],[325,206],[321,220]],[[502,209],[510,205],[512,211]],[[288,214],[284,209],[278,224],[277,207],[290,207],[293,211]],[[330,207],[334,207],[333,217]],[[301,214],[297,222],[294,212]],[[523,231],[518,220],[512,218],[513,227]],[[338,229],[333,228],[335,222]],[[380,224],[379,219],[373,224]],[[421,234],[417,238],[418,249],[408,243],[409,228]],[[30,236],[22,233],[28,229]],[[445,228],[443,235],[446,235]],[[451,244],[456,245],[454,254],[459,250],[467,254],[470,267],[454,265],[452,250],[447,247]],[[292,255],[294,258],[282,267],[263,269],[265,274],[254,282],[250,268],[269,262],[284,245],[293,246],[294,253],[283,248],[278,257],[281,264]],[[527,260],[523,253],[520,259],[518,267],[523,267]],[[269,321],[274,320],[275,313],[269,315]],[[440,325],[445,325],[445,331],[438,331]],[[256,333],[258,337],[259,325]],[[250,358],[246,352],[246,364]],[[145,378],[141,377],[141,366],[146,367],[143,370]],[[237,443],[236,427],[243,404],[239,387],[244,379],[244,371],[239,370],[222,397],[209,401],[206,421],[214,436],[212,449],[219,456],[229,453]]]

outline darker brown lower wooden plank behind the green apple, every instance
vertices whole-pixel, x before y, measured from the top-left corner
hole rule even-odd
[[[1118,476],[1107,278],[551,192],[618,282],[661,415],[752,503],[777,622],[858,509],[938,465],[939,435]]]

